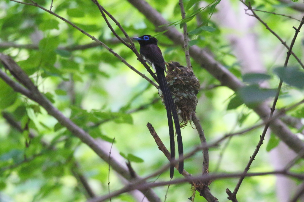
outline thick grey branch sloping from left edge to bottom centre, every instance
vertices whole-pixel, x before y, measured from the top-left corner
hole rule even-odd
[[[0,53],[0,60],[3,62],[3,58],[5,59],[6,56]],[[26,73],[16,64],[15,61],[12,59],[9,60],[9,62],[5,61],[6,65],[10,68],[11,66],[14,66],[18,72],[22,73],[20,75],[24,76],[20,77],[18,76],[18,79],[20,79],[22,83],[25,83],[25,81],[31,81],[29,77],[26,75]],[[15,75],[15,72],[13,72],[13,75]],[[86,133],[83,129],[78,127],[73,121],[66,118],[57,108],[54,107],[54,105],[45,98],[40,91],[35,88],[33,91],[29,91],[28,89],[22,87],[17,82],[13,81],[8,75],[6,75],[3,71],[0,70],[0,78],[2,78],[7,84],[9,84],[16,92],[19,92],[23,95],[26,95],[28,98],[30,98],[33,101],[36,101],[38,104],[40,104],[50,116],[53,116],[57,119],[57,121],[64,127],[67,128],[67,130],[71,131],[72,134],[74,134],[76,137],[78,137],[83,143],[87,144],[99,157],[101,157],[105,162],[109,163],[111,167],[121,176],[123,176],[126,180],[131,180],[130,172],[128,168],[125,165],[120,164],[115,158],[111,157],[109,158],[108,151],[105,150],[105,148],[100,147],[98,142],[91,137],[88,133]],[[31,85],[34,86],[32,83]],[[135,179],[142,180],[141,177],[136,175]],[[133,179],[134,180],[134,179]],[[160,202],[160,198],[151,190],[151,189],[143,189],[140,190],[150,201]]]

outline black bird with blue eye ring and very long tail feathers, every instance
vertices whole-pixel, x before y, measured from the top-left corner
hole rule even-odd
[[[166,66],[164,57],[161,53],[161,49],[157,46],[157,39],[152,37],[151,35],[143,35],[141,37],[133,38],[137,40],[140,44],[140,55],[144,60],[148,62],[148,64],[154,69],[156,72],[156,76],[159,82],[159,86],[164,95],[164,103],[167,109],[167,117],[168,117],[168,126],[169,126],[169,136],[170,136],[170,153],[171,153],[171,161],[175,160],[175,143],[174,143],[174,127],[172,116],[175,125],[175,131],[177,134],[177,145],[178,145],[178,157],[179,159],[183,158],[183,141],[181,139],[181,127],[179,125],[178,115],[176,112],[176,106],[174,104],[171,91],[168,87],[167,80],[165,77]],[[179,160],[178,163],[178,171],[182,173],[184,170],[184,161]],[[170,177],[173,178],[174,174],[174,166],[170,167]]]

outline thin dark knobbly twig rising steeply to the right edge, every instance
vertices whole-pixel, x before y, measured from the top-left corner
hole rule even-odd
[[[249,9],[252,9],[252,8],[251,8],[251,5],[250,5],[250,2],[249,2],[248,8],[249,8]],[[252,12],[253,12],[253,11],[252,11]],[[254,13],[254,15],[255,15],[255,13]],[[301,22],[300,22],[300,24],[299,24],[299,27],[298,27],[298,28],[295,28],[295,35],[294,35],[294,37],[293,37],[293,39],[292,39],[292,42],[291,42],[291,44],[290,44],[290,48],[288,49],[287,56],[286,56],[286,59],[285,59],[285,63],[284,63],[284,67],[285,67],[285,68],[286,68],[287,65],[288,65],[288,61],[289,61],[289,58],[290,58],[290,55],[291,55],[291,52],[292,52],[292,47],[293,47],[293,45],[294,45],[294,43],[295,43],[295,39],[297,38],[298,33],[300,32],[300,29],[301,29],[303,23],[304,23],[304,16],[303,16],[303,18],[302,18],[302,20],[301,20]],[[275,96],[275,98],[274,98],[274,101],[273,101],[273,104],[272,104],[272,107],[271,107],[271,112],[270,112],[270,114],[269,114],[269,118],[268,118],[268,119],[271,119],[271,118],[272,118],[273,113],[274,113],[274,111],[275,111],[275,106],[276,106],[276,103],[277,103],[277,101],[278,101],[278,97],[279,97],[279,94],[280,94],[280,90],[281,90],[281,87],[282,87],[282,83],[283,83],[283,80],[281,79],[281,80],[280,80],[280,83],[279,83],[279,85],[278,85],[277,94],[276,94],[276,96]],[[250,165],[251,165],[252,162],[254,161],[254,158],[256,157],[256,155],[257,155],[257,153],[258,153],[258,151],[259,151],[261,145],[263,144],[264,137],[265,137],[265,134],[266,134],[266,132],[267,132],[267,130],[268,130],[269,125],[270,125],[270,123],[267,123],[267,124],[265,125],[264,131],[263,131],[263,133],[262,133],[262,135],[261,135],[261,137],[260,137],[260,141],[258,142],[257,147],[256,147],[256,149],[254,150],[254,153],[253,153],[252,156],[250,157],[250,160],[249,160],[247,166],[246,166],[245,169],[244,169],[244,173],[247,173],[247,172],[248,172],[248,170],[249,170],[249,168],[250,168]],[[244,178],[245,178],[245,177],[240,177],[240,179],[239,179],[239,181],[238,181],[238,183],[237,183],[237,185],[236,185],[236,187],[235,187],[235,189],[234,189],[234,191],[233,191],[233,196],[236,196],[236,195],[237,195],[237,191],[239,190],[240,185],[242,184],[242,181],[244,180]]]

